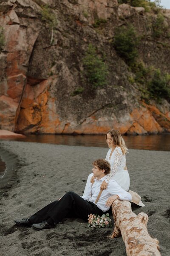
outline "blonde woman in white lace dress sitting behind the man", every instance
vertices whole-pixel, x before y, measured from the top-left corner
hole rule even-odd
[[[101,189],[106,189],[108,182],[111,179],[116,180],[116,182],[125,189],[129,190],[130,186],[130,177],[126,167],[126,156],[127,148],[125,141],[123,140],[121,134],[117,130],[109,130],[106,133],[106,143],[109,146],[108,153],[106,155],[106,160],[111,164],[111,172],[106,175],[105,180],[102,182]],[[88,180],[85,186],[85,191],[88,188],[88,184],[93,183],[94,176],[91,173],[88,176]]]

